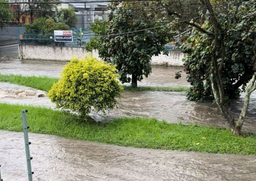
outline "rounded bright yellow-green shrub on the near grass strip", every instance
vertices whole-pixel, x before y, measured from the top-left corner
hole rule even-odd
[[[48,96],[57,108],[86,116],[92,107],[103,112],[113,109],[122,90],[116,67],[90,56],[83,60],[72,58]]]

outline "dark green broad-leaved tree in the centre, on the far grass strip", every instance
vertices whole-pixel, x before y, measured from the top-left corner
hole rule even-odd
[[[100,43],[96,45],[99,56],[104,61],[117,65],[122,83],[131,81],[132,86],[137,87],[137,80],[140,81],[143,76],[148,77],[151,73],[149,65],[151,57],[158,56],[161,52],[168,53],[164,45],[172,37],[160,35],[165,31],[164,21],[147,21],[150,16],[143,13],[147,7],[135,10],[127,8],[127,4],[123,3],[114,14],[116,6],[116,3],[108,6],[111,13],[108,15],[107,24],[100,26],[98,22],[91,26],[96,36],[102,36],[92,41],[99,40]],[[98,30],[97,27],[103,29]],[[89,43],[87,47],[91,45]]]

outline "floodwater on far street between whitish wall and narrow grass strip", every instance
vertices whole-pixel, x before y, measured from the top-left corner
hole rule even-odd
[[[60,77],[62,68],[66,63],[47,60],[5,59],[0,60],[0,73]],[[138,82],[138,86],[189,86],[184,72],[182,72],[180,79],[177,80],[174,78],[175,72],[179,70],[182,70],[182,67],[153,66],[151,75]]]

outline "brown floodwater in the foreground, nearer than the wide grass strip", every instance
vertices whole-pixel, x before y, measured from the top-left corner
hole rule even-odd
[[[29,133],[36,181],[252,181],[256,156],[130,148]],[[0,130],[4,181],[26,181],[23,133]]]

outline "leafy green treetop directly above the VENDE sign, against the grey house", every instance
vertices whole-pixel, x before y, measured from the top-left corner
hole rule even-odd
[[[58,23],[65,23],[69,27],[75,27],[75,24],[77,23],[77,16],[75,15],[74,8],[69,9],[61,9],[60,11],[57,11],[55,16],[53,17],[54,20]]]

